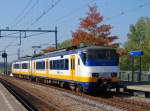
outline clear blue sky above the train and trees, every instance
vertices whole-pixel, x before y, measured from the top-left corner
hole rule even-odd
[[[112,35],[117,35],[117,42],[123,44],[127,40],[129,26],[135,24],[141,16],[150,17],[149,0],[60,0],[36,24],[31,25],[57,1],[59,0],[0,0],[0,28],[54,29],[57,26],[58,42],[62,42],[71,38],[71,32],[78,27],[79,19],[85,16],[88,5],[96,3],[104,23],[112,25]],[[15,60],[18,44],[19,39],[0,38],[0,51],[6,48],[8,60]],[[22,39],[21,56],[33,54],[32,46],[42,44],[54,44],[54,34]],[[43,45],[42,48],[47,46]],[[0,61],[3,61],[2,58]]]

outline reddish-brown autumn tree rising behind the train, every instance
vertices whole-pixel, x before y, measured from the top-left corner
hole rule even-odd
[[[80,43],[118,47],[114,41],[117,36],[111,36],[111,25],[102,24],[103,16],[97,11],[97,6],[89,6],[89,11],[85,18],[81,19],[78,29],[72,33],[72,44]]]

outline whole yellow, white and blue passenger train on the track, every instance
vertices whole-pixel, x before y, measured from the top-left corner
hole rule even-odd
[[[62,49],[12,63],[12,74],[44,83],[69,86],[77,91],[116,87],[119,57],[108,47]]]

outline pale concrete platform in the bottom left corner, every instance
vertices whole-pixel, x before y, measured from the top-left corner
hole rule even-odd
[[[24,106],[1,83],[0,111],[27,111]]]

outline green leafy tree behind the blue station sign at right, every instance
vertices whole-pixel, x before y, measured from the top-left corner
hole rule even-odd
[[[148,70],[150,67],[150,18],[141,17],[136,24],[130,25],[128,40],[124,45],[127,52],[132,50],[142,50],[142,69]],[[124,56],[120,59],[122,69],[129,67],[130,57]],[[135,70],[139,69],[139,59],[135,57]]]

